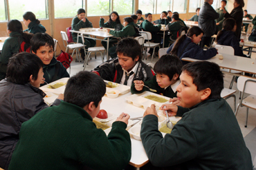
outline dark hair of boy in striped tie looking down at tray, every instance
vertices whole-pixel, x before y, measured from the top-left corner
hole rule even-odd
[[[139,57],[138,61],[142,59],[140,44],[133,38],[125,38],[119,41],[116,47],[116,54],[118,53],[131,57],[133,61],[136,59],[136,56]]]

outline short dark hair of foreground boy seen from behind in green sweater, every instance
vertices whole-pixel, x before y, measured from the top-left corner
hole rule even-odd
[[[100,76],[93,72],[81,71],[66,83],[64,101],[82,108],[94,102],[95,107],[98,107],[105,93],[106,85]]]

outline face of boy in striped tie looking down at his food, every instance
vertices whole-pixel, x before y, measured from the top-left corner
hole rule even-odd
[[[136,56],[134,60],[132,60],[129,56],[124,56],[122,53],[118,52],[118,61],[122,68],[126,70],[127,72],[131,71],[131,69],[136,65],[139,57]]]

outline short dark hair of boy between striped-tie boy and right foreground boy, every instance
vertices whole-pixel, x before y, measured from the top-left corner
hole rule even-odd
[[[165,74],[172,80],[174,74],[181,75],[182,63],[178,56],[165,54],[154,65],[156,74]],[[179,78],[178,78],[179,80]]]

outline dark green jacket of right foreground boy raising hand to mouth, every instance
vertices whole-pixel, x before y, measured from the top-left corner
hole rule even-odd
[[[181,120],[163,138],[158,118],[143,118],[140,137],[156,167],[182,164],[186,169],[253,169],[241,129],[230,105],[221,99],[205,100],[187,109],[179,107]]]

